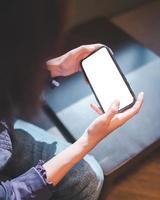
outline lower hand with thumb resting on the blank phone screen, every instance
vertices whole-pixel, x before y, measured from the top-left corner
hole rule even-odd
[[[134,115],[138,114],[144,101],[144,93],[138,95],[136,103],[130,109],[123,113],[118,113],[119,102],[116,100],[107,113],[103,113],[96,105],[91,107],[100,116],[88,127],[87,131],[82,137],[87,136],[87,142],[90,141],[95,146],[99,141],[106,137],[109,133],[117,129],[131,119]]]

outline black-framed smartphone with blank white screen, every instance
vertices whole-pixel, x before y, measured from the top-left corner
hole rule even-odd
[[[115,99],[120,100],[119,112],[134,105],[135,95],[108,47],[83,59],[81,68],[103,112]]]

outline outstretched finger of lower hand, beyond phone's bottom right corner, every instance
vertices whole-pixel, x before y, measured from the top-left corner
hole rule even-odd
[[[129,119],[131,119],[134,115],[136,115],[140,111],[143,101],[144,101],[144,93],[141,92],[139,93],[138,98],[132,108],[126,110],[123,113],[118,114],[119,115],[118,120],[120,121],[120,123],[123,124]]]

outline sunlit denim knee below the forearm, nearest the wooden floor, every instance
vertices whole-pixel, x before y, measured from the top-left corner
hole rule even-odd
[[[57,199],[97,200],[103,185],[103,172],[94,160],[83,159],[54,188]]]

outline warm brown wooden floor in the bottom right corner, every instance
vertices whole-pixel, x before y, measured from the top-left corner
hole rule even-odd
[[[100,200],[159,200],[160,148],[107,192],[104,184]]]

